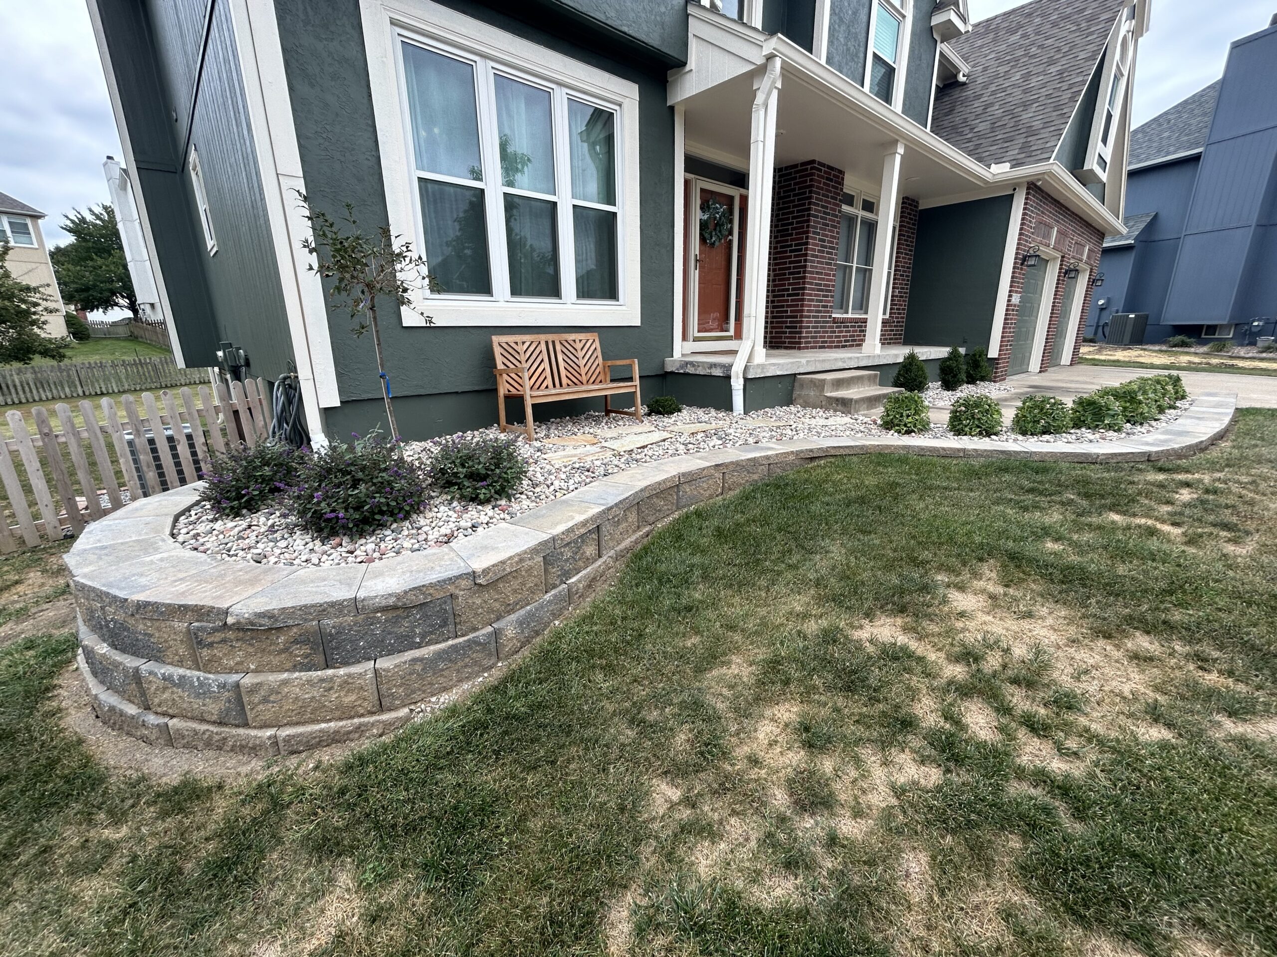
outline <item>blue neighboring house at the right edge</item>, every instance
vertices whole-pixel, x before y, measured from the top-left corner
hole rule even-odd
[[[1222,79],[1131,133],[1125,217],[1105,242],[1092,336],[1120,313],[1147,314],[1143,342],[1273,334],[1277,17],[1232,43]]]

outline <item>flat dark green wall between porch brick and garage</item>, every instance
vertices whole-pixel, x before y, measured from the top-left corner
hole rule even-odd
[[[905,342],[988,346],[1010,222],[1010,195],[918,213]]]

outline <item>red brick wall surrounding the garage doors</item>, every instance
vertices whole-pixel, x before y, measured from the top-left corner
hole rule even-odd
[[[1074,260],[1091,267],[1091,276],[1096,274],[1099,265],[1099,249],[1103,245],[1103,234],[1085,222],[1080,216],[1068,209],[1062,203],[1051,197],[1034,184],[1028,185],[1024,195],[1024,219],[1020,223],[1020,232],[1015,242],[1015,263],[1011,272],[1011,287],[1008,292],[1006,318],[1002,322],[1002,338],[997,359],[991,360],[994,365],[994,379],[1001,382],[1006,378],[1006,369],[1011,360],[1011,341],[1015,338],[1015,324],[1019,319],[1019,308],[1014,297],[1024,290],[1024,267],[1022,262],[1032,246],[1051,249],[1061,256],[1060,269],[1056,273],[1055,288],[1051,291],[1051,313],[1047,316],[1046,345],[1042,347],[1042,362],[1038,371],[1045,371],[1051,364],[1051,348],[1055,346],[1056,330],[1060,327],[1060,306],[1064,304],[1064,267]],[[1043,230],[1055,227],[1055,240],[1043,239]],[[1091,311],[1089,283],[1083,290],[1082,315]],[[1082,351],[1082,334],[1079,332],[1069,362],[1078,361]]]

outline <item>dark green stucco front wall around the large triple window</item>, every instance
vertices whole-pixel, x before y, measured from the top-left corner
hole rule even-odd
[[[642,222],[642,325],[600,330],[607,357],[638,360],[640,374],[656,388],[670,352],[674,315],[673,111],[665,105],[668,66],[646,51],[632,59],[603,54],[529,23],[474,3],[446,4],[501,29],[525,37],[638,85],[640,207]],[[319,208],[340,212],[355,205],[361,223],[387,222],[381,156],[356,0],[276,0],[285,68],[292,100],[298,145],[310,199]],[[686,31],[686,9],[682,10]],[[341,78],[341,82],[335,82]],[[393,302],[381,304],[387,371],[396,397],[396,417],[406,438],[425,438],[458,427],[495,421],[490,337],[515,328],[405,328]],[[335,435],[365,431],[382,421],[379,383],[368,337],[350,334],[350,316],[329,311],[337,385],[342,406],[326,412]],[[567,332],[536,327],[524,332]],[[589,404],[600,408],[601,401]],[[553,406],[547,413],[571,411]],[[521,413],[520,413],[521,415]]]

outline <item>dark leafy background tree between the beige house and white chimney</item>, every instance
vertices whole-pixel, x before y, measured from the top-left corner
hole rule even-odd
[[[138,297],[124,259],[115,211],[105,203],[91,205],[84,213],[75,209],[65,217],[63,228],[72,241],[49,254],[63,299],[86,313],[119,308],[137,316]]]

